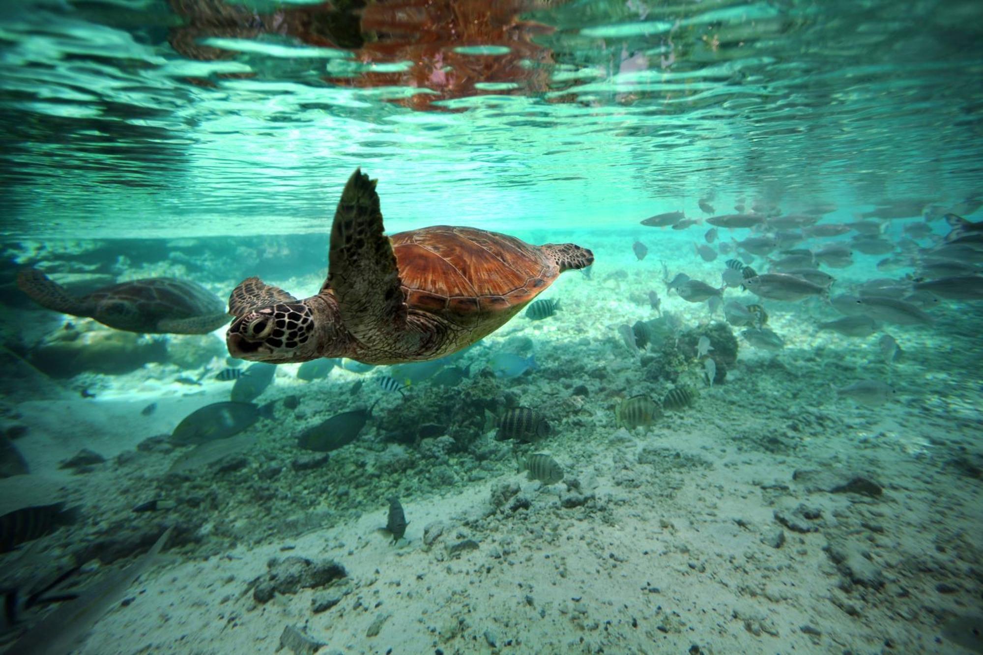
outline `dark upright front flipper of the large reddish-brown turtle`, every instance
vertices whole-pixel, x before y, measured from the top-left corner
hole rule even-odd
[[[399,349],[407,308],[392,244],[382,234],[376,182],[356,170],[331,226],[327,284],[344,326],[367,348]]]

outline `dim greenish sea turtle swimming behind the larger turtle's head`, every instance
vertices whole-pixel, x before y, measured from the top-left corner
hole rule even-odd
[[[204,334],[230,319],[218,296],[173,277],[134,279],[76,298],[40,270],[26,268],[17,285],[41,307],[131,332]]]

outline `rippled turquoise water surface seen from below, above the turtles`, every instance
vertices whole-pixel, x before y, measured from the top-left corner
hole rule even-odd
[[[979,182],[969,1],[5,5],[13,235],[323,231],[360,165],[390,229]]]

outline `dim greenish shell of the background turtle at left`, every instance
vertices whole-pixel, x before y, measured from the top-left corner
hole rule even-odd
[[[157,331],[163,319],[221,314],[225,305],[203,286],[183,279],[151,277],[121,282],[88,294],[82,302],[96,321],[117,329]]]

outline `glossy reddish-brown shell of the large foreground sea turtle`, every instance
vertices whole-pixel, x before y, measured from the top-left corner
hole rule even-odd
[[[503,324],[559,274],[538,246],[473,227],[434,225],[390,239],[407,305],[460,327]]]

